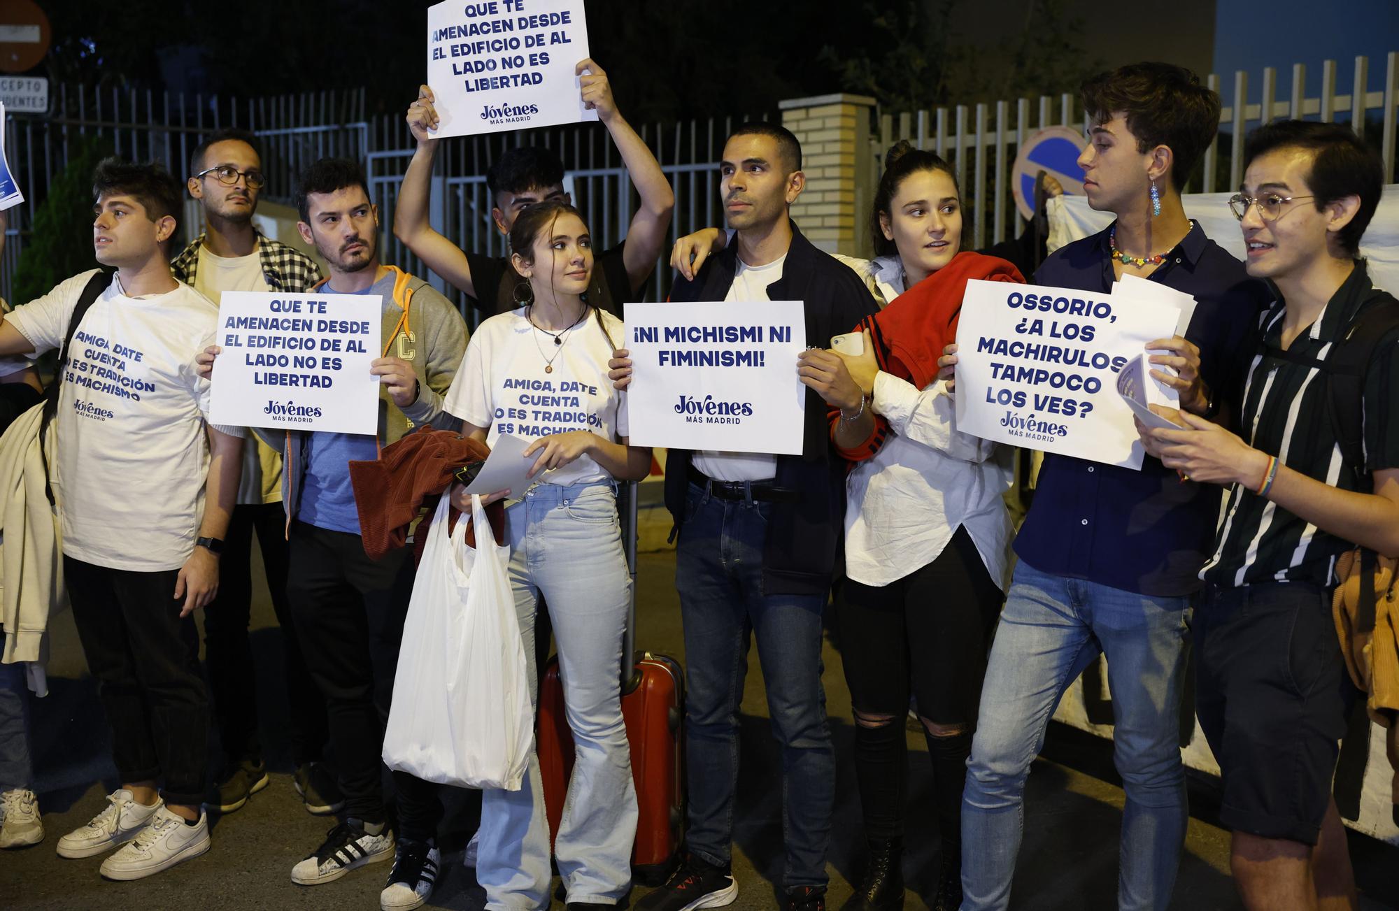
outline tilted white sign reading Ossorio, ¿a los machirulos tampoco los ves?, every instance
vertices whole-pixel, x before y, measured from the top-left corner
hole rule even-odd
[[[1118,293],[970,281],[957,326],[957,429],[1142,468],[1146,454],[1116,373],[1179,310]]]

